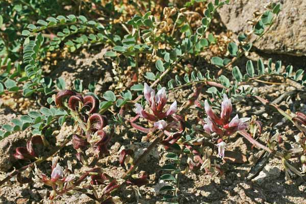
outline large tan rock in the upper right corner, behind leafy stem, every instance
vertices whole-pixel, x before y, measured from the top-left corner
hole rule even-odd
[[[254,11],[264,11],[270,2],[282,4],[282,10],[272,28],[254,46],[268,53],[306,56],[306,1],[305,0],[235,0],[220,9],[226,28],[236,34],[248,31]]]

